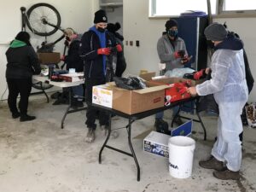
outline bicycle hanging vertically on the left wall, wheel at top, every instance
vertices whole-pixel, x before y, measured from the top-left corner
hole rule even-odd
[[[31,8],[20,8],[21,11],[21,31],[26,31],[26,26],[31,32],[39,36],[45,37],[45,41],[41,44],[41,48],[38,48],[38,52],[52,52],[54,45],[65,38],[64,30],[61,29],[61,15],[48,3],[36,3]],[[50,36],[61,30],[63,34],[61,38],[58,38],[53,43],[47,44],[47,36]],[[66,47],[64,49],[64,54]],[[44,84],[42,82],[33,81],[32,87],[38,90],[47,90],[53,85]]]

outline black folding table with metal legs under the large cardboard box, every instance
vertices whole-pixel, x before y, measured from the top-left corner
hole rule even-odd
[[[103,106],[100,106],[100,105],[91,104],[92,108],[96,108],[97,110],[106,111],[108,113],[108,119],[109,119],[108,136],[107,136],[107,138],[106,138],[105,142],[103,143],[102,148],[100,150],[100,153],[99,153],[99,163],[100,164],[102,163],[102,152],[103,152],[104,148],[110,148],[110,149],[115,150],[115,151],[117,151],[119,153],[131,156],[131,157],[133,157],[133,159],[135,161],[135,164],[137,166],[137,181],[140,181],[140,166],[138,164],[137,157],[136,157],[136,154],[134,152],[134,149],[133,149],[132,143],[131,143],[131,125],[132,125],[132,123],[135,122],[137,119],[146,118],[146,117],[148,117],[150,115],[153,115],[155,113],[159,113],[159,112],[165,111],[166,109],[170,109],[170,108],[173,108],[173,107],[176,107],[176,106],[182,106],[186,102],[193,102],[193,101],[195,101],[195,106],[196,106],[196,103],[198,102],[198,99],[199,99],[199,97],[191,97],[189,99],[185,99],[185,100],[182,100],[182,101],[172,102],[172,104],[167,106],[167,107],[155,108],[155,109],[152,109],[152,110],[148,110],[148,111],[145,111],[145,112],[142,112],[142,113],[136,113],[136,114],[122,113],[122,112],[119,112],[119,111],[114,110],[112,108],[106,108],[106,107],[103,107]],[[180,110],[178,110],[175,118],[177,116],[180,116],[181,118],[185,118],[185,117],[179,115],[179,112],[180,112]],[[128,125],[126,125],[125,127],[126,127],[127,134],[128,134],[128,144],[129,144],[129,147],[131,149],[131,153],[125,152],[123,150],[120,150],[119,148],[114,148],[114,147],[109,146],[107,144],[108,143],[108,139],[109,139],[110,134],[111,134],[111,130],[112,130],[111,129],[112,114],[118,115],[118,116],[123,117],[125,119],[128,119]],[[197,110],[196,110],[196,115],[197,115],[198,119],[193,119],[193,120],[195,120],[196,122],[200,122],[201,123],[202,129],[204,131],[204,140],[206,140],[207,139],[207,131],[206,131],[205,125],[201,121],[200,114],[198,113]],[[172,123],[173,123],[173,119],[172,119]]]

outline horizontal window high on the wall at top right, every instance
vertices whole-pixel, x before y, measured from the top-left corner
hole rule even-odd
[[[256,15],[255,0],[210,0],[210,2],[212,15]],[[149,0],[149,17],[179,16],[189,10],[208,14],[207,0]]]

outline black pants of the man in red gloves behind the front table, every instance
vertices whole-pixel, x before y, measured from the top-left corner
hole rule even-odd
[[[108,125],[108,114],[91,108],[92,87],[94,85],[105,84],[105,79],[87,79],[85,80],[85,100],[87,103],[86,121],[88,128],[96,129],[96,116],[99,116],[100,125]]]

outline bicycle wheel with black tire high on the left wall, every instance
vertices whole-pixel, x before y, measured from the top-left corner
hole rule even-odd
[[[39,36],[54,34],[61,26],[61,15],[48,3],[37,3],[27,10],[27,26]]]

